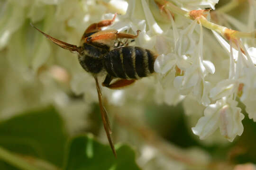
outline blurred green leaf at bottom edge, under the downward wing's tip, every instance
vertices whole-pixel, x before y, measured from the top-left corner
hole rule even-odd
[[[140,170],[129,146],[119,145],[116,150],[117,158],[109,145],[100,144],[90,135],[77,136],[68,146],[64,170]]]

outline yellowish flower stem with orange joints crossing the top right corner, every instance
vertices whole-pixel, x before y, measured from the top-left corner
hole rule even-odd
[[[235,4],[235,3],[238,3],[238,2],[240,3],[240,1],[242,2],[244,0],[233,0],[233,1],[232,2]],[[235,1],[237,1],[237,2],[235,2]],[[230,30],[230,29],[228,29],[225,26],[219,26],[217,24],[214,24],[214,23],[208,21],[203,16],[201,16],[200,18],[199,17],[197,17],[197,18],[190,17],[190,12],[187,12],[187,11],[185,11],[185,10],[175,6],[170,1],[167,1],[167,0],[155,0],[155,2],[157,4],[163,6],[163,8],[165,8],[165,10],[169,10],[171,12],[174,12],[176,14],[182,15],[182,16],[184,16],[186,18],[189,18],[189,19],[192,19],[192,20],[197,19],[197,20],[199,20],[199,22],[201,22],[202,26],[204,26],[204,27],[206,27],[206,28],[208,28],[210,30],[214,30],[214,31],[220,33],[221,35],[227,34],[226,30],[229,30],[229,33],[233,33],[232,36],[234,38],[256,38],[256,31],[247,33],[247,32],[240,32],[240,31]],[[234,4],[233,4],[233,6],[234,6]],[[229,6],[231,6],[231,5],[229,5]],[[230,8],[230,7],[226,7],[226,8]],[[227,10],[227,9],[225,9],[225,10]]]

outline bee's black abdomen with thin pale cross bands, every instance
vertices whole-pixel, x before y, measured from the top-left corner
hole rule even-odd
[[[156,57],[152,51],[141,47],[119,47],[104,56],[103,67],[113,77],[139,79],[154,72]]]

